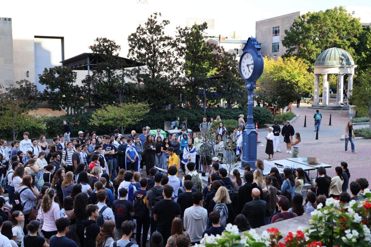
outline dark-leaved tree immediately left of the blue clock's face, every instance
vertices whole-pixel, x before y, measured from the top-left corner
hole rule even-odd
[[[236,54],[224,51],[223,47],[218,47],[218,54],[215,56],[215,76],[220,79],[215,80],[214,87],[220,98],[227,101],[227,108],[232,108],[234,102],[240,104],[247,101],[247,90],[245,83],[239,73],[239,63]]]

